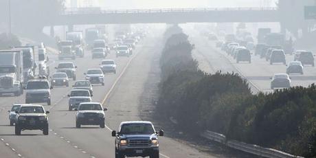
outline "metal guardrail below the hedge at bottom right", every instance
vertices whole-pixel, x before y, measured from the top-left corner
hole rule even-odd
[[[247,144],[244,142],[238,142],[236,140],[227,141],[225,135],[220,133],[214,133],[212,131],[204,131],[201,133],[201,137],[206,139],[210,139],[215,142],[219,142],[224,144],[225,146],[229,146],[230,148],[234,148],[236,150],[242,150],[246,153],[251,153],[253,155],[258,155],[260,157],[269,157],[269,158],[304,158],[300,156],[291,155],[289,153],[284,153],[280,150],[275,150],[272,148],[263,148],[262,146],[257,146],[254,144]]]

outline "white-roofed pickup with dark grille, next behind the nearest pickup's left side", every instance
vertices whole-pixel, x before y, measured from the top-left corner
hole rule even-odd
[[[76,128],[81,125],[99,125],[105,127],[105,114],[107,109],[102,107],[99,102],[82,102],[79,104],[76,113]]]

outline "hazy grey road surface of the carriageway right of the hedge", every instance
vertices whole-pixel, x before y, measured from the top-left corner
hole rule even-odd
[[[203,71],[214,73],[215,71],[235,72],[249,80],[251,91],[258,93],[271,93],[271,77],[273,74],[285,74],[286,65],[275,63],[270,65],[265,58],[251,56],[251,63],[236,63],[232,56],[228,56],[221,48],[215,47],[216,41],[210,41],[192,27],[183,27],[190,41],[195,45],[193,56],[199,62],[199,68]],[[254,53],[253,53],[254,54]],[[286,63],[293,61],[294,56],[286,54]],[[304,75],[291,74],[291,87],[313,84],[316,80],[316,69],[310,65],[304,66]]]

